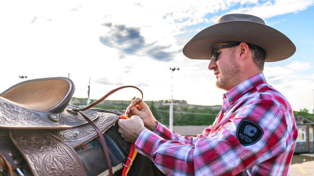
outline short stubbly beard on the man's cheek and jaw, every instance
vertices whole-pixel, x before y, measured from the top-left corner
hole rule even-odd
[[[234,54],[229,56],[229,61],[222,68],[218,69],[219,75],[216,86],[223,90],[230,90],[236,87],[240,81],[240,66],[234,60]]]

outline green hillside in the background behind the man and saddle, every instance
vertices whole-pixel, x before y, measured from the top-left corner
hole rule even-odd
[[[91,100],[95,102],[96,100]],[[117,101],[117,100],[104,100],[99,103],[98,108],[102,109],[119,109],[125,110],[131,101]],[[145,101],[151,109],[155,118],[165,125],[169,125],[169,105],[168,101]],[[86,98],[73,97],[70,104],[86,105]],[[216,115],[221,110],[221,105],[216,106],[202,106],[187,104],[184,100],[175,100],[177,105],[174,105],[174,125],[211,125]],[[314,115],[308,113],[306,110],[293,111],[294,116],[300,115],[311,121],[314,121]]]

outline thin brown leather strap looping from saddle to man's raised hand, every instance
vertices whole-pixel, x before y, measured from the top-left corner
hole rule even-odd
[[[109,152],[108,152],[108,147],[106,145],[106,141],[105,141],[105,138],[104,136],[102,135],[102,132],[101,130],[96,126],[96,124],[90,119],[88,118],[86,115],[84,115],[82,112],[80,111],[84,111],[84,110],[87,110],[87,109],[90,109],[92,107],[94,107],[95,105],[97,105],[98,103],[102,102],[103,100],[105,100],[109,95],[115,93],[116,91],[120,90],[120,89],[124,89],[124,88],[128,88],[128,87],[131,87],[131,88],[135,88],[137,90],[140,91],[140,93],[142,94],[142,99],[141,101],[143,100],[143,92],[135,87],[135,86],[122,86],[122,87],[118,87],[116,89],[113,89],[112,91],[108,92],[105,96],[103,96],[102,98],[100,98],[99,100],[97,100],[96,102],[88,105],[87,107],[85,108],[82,108],[82,109],[73,109],[74,111],[76,112],[79,112],[90,124],[91,126],[97,131],[99,137],[100,137],[100,140],[101,140],[101,143],[102,143],[102,146],[103,146],[103,150],[104,150],[104,153],[105,153],[105,157],[106,157],[106,160],[107,160],[107,164],[108,164],[108,169],[109,169],[109,175],[110,176],[113,176],[113,172],[112,172],[112,165],[111,165],[111,161],[110,161],[110,157],[109,157]],[[140,103],[141,101],[139,101],[138,103]],[[137,104],[138,104],[137,103]]]

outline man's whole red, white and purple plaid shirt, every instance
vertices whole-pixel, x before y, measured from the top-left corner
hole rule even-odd
[[[158,123],[135,146],[168,175],[289,175],[296,138],[291,106],[260,73],[223,94],[214,123],[197,137]]]

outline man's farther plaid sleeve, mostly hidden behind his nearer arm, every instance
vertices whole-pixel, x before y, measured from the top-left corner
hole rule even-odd
[[[205,134],[208,133],[210,129],[211,129],[211,126],[206,128],[203,131],[203,134],[198,134],[197,137],[193,137],[193,136],[188,137],[188,136],[181,136],[177,134],[175,131],[171,131],[169,128],[167,128],[166,126],[158,122],[158,125],[153,131],[153,133],[159,135],[160,137],[166,140],[175,140],[184,144],[194,145],[201,137],[205,136]]]

